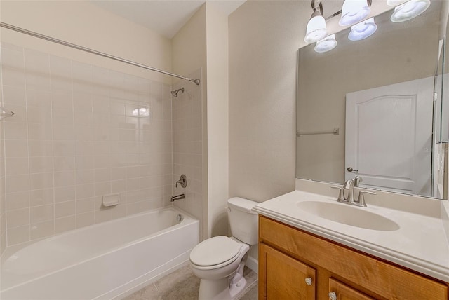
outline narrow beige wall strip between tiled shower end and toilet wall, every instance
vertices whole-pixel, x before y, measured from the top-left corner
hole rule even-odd
[[[206,3],[208,235],[227,235],[229,198],[228,18]]]

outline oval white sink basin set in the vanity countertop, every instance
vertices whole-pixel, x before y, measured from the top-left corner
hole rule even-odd
[[[380,214],[368,212],[363,208],[352,207],[343,203],[302,201],[297,203],[304,212],[314,214],[317,217],[335,221],[349,226],[373,229],[378,231],[394,231],[399,225]]]

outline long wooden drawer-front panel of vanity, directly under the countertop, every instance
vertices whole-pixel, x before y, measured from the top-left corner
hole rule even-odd
[[[330,240],[260,216],[260,242],[325,268],[386,299],[448,299],[448,286]]]

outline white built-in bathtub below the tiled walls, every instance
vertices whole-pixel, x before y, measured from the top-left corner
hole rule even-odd
[[[4,253],[0,299],[120,299],[187,263],[199,221],[175,207],[68,231]]]

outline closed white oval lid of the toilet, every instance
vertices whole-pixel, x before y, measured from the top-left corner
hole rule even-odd
[[[240,253],[240,245],[227,236],[215,236],[203,240],[190,252],[190,261],[197,266],[214,266],[234,259]]]

